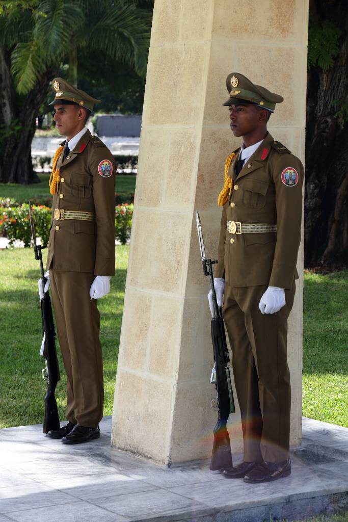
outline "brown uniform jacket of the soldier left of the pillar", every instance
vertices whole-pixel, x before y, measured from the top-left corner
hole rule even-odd
[[[63,162],[61,155],[57,167],[61,181],[53,196],[46,268],[53,261],[57,271],[114,275],[115,163],[110,150],[87,131]],[[94,212],[97,220],[56,220],[56,208]]]

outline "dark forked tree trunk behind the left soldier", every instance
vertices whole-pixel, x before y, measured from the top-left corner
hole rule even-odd
[[[19,97],[10,75],[9,53],[0,47],[0,182],[36,183],[31,162],[31,142],[35,133],[35,118],[43,103],[54,72],[45,71],[25,97]]]

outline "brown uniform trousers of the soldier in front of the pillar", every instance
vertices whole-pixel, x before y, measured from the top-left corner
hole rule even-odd
[[[244,460],[281,462],[289,457],[291,387],[287,365],[287,318],[295,281],[285,306],[261,314],[268,285],[226,285],[223,319],[232,348],[232,368],[241,408]]]

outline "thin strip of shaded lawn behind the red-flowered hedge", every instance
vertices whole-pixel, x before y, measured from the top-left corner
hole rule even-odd
[[[30,198],[46,199],[50,196],[49,179],[50,174],[38,174],[40,183],[32,185],[18,185],[16,183],[0,183],[0,199],[11,197],[20,201],[20,203],[28,203]],[[133,194],[135,191],[135,175],[116,175],[115,191],[120,195]]]

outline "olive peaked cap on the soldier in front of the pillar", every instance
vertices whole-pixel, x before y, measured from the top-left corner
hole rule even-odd
[[[246,76],[240,73],[231,73],[226,78],[226,87],[230,98],[223,105],[243,105],[254,103],[262,109],[274,112],[275,104],[284,99],[269,91],[265,87],[253,84]]]

